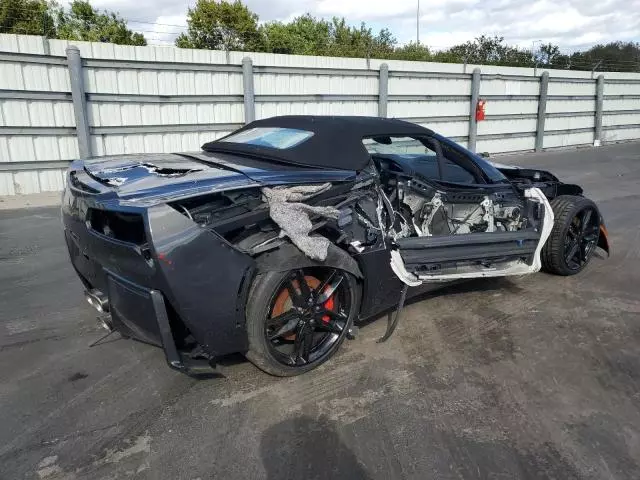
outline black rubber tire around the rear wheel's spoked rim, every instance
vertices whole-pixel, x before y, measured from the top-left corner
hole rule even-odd
[[[311,270],[311,272],[309,272],[309,270]],[[297,279],[299,278],[308,279],[310,278],[311,275],[317,275],[318,277],[321,278],[323,275],[322,272],[330,272],[330,271],[339,272],[338,274],[342,277],[342,280],[340,281],[340,285],[342,286],[337,287],[335,291],[338,292],[338,288],[341,289],[338,293],[341,295],[340,298],[343,299],[342,301],[345,304],[347,303],[347,299],[348,299],[349,311],[348,311],[348,314],[346,314],[343,311],[340,311],[341,315],[344,314],[341,317],[343,319],[342,322],[344,323],[344,325],[342,326],[343,328],[340,331],[340,333],[336,333],[336,332],[327,333],[327,335],[331,334],[332,337],[335,337],[334,340],[332,339],[333,340],[332,343],[328,346],[323,347],[325,348],[325,350],[319,351],[320,353],[316,354],[317,355],[316,358],[308,357],[307,362],[299,364],[298,362],[304,362],[302,358],[298,358],[293,354],[290,355],[289,358],[285,358],[286,355],[283,355],[281,352],[279,352],[277,350],[277,347],[273,345],[272,343],[273,340],[269,340],[267,338],[268,328],[269,328],[267,322],[270,319],[273,319],[273,312],[275,308],[274,302],[276,302],[280,298],[280,296],[282,295],[282,292],[284,292],[283,285],[285,285],[287,282],[290,282],[292,276],[293,278],[297,278]],[[302,274],[303,277],[296,276],[300,274]],[[297,282],[297,280],[293,280],[293,281]],[[294,285],[296,285],[295,288],[297,289],[298,288],[297,285],[299,285],[299,283],[294,283]],[[289,286],[291,286],[291,284],[289,284]],[[317,288],[320,288],[320,287],[317,287]],[[287,291],[291,292],[291,290],[289,289],[287,289]],[[302,293],[300,289],[298,289],[297,292]],[[338,293],[336,293],[335,295],[338,295]],[[359,289],[357,288],[357,283],[355,278],[349,273],[346,273],[342,270],[332,269],[332,268],[327,268],[327,269],[312,268],[312,269],[291,270],[286,272],[266,272],[266,273],[259,274],[256,276],[256,278],[253,281],[248,298],[249,300],[247,301],[247,306],[246,306],[246,326],[247,326],[247,335],[249,339],[249,350],[247,351],[245,356],[249,361],[251,361],[251,363],[253,363],[259,369],[278,377],[290,377],[290,376],[300,375],[302,373],[308,372],[309,370],[312,370],[318,367],[319,365],[329,360],[335,354],[338,348],[340,348],[340,345],[344,341],[347,335],[347,332],[349,331],[349,328],[353,324],[354,318],[357,315],[360,308]],[[333,295],[331,298],[333,298]],[[296,313],[294,312],[294,309],[293,309],[292,297],[289,301],[291,303],[291,307],[290,309],[286,310],[284,313],[286,314],[291,312],[295,316]],[[323,303],[322,305],[326,305],[326,303]],[[326,315],[321,318],[324,319],[325,317]],[[299,330],[297,329],[295,330],[296,335],[294,335],[294,338],[298,337],[297,335],[298,331]],[[316,331],[314,332],[314,334],[317,336],[318,332]],[[312,338],[314,334],[312,334]],[[283,348],[287,346],[285,344],[289,342],[289,339],[291,338],[291,336],[292,335],[289,335],[288,337],[283,336],[278,339],[278,340],[281,340],[282,338],[284,338],[284,340],[282,340]],[[320,335],[320,337],[322,337],[322,334]],[[303,338],[303,337],[300,336],[300,338]],[[293,342],[294,342],[294,346],[292,347],[292,349],[295,350],[295,344],[296,344],[295,339],[293,340]],[[295,359],[292,357],[295,357]],[[294,362],[294,363],[287,363],[287,362]]]

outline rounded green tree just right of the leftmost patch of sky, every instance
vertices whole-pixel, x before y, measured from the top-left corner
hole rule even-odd
[[[239,0],[198,0],[187,14],[187,33],[176,39],[180,48],[261,51],[258,15]]]

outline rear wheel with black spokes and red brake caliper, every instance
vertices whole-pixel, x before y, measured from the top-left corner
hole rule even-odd
[[[353,276],[334,268],[258,275],[246,308],[247,358],[282,377],[317,367],[344,341],[359,308],[357,293]]]

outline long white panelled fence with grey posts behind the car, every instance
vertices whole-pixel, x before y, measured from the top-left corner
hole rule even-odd
[[[79,156],[198,150],[284,114],[403,118],[490,153],[640,138],[640,74],[542,73],[0,35],[0,195],[60,190]],[[477,124],[474,91],[487,102]]]

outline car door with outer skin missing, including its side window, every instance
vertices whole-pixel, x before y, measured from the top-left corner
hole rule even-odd
[[[395,240],[394,271],[401,278],[421,282],[539,270],[540,250],[550,233],[553,218],[542,192],[517,191],[499,172],[485,172],[474,154],[452,142],[436,137],[417,140],[424,145],[424,152],[416,148],[414,142],[411,151],[396,150],[382,156],[400,164],[409,176],[405,184],[401,181],[400,184],[410,190],[413,203],[415,196],[423,195],[431,202],[432,209],[433,205],[439,205],[446,218],[438,228],[434,222],[433,229],[427,226],[418,235]],[[512,205],[517,205],[526,216],[522,228],[505,227],[496,220],[496,212],[500,215],[505,209],[513,212],[516,207]],[[456,211],[471,212],[468,216],[476,217],[482,214],[480,226],[474,230],[473,226],[465,225],[461,230],[464,222],[460,222],[460,218],[464,220],[465,214],[453,219],[451,212]],[[435,218],[437,212],[434,214],[431,210],[430,215]],[[541,228],[545,215],[547,220],[551,218],[547,229]],[[415,217],[413,222],[415,226]],[[415,228],[420,230],[419,226]]]

